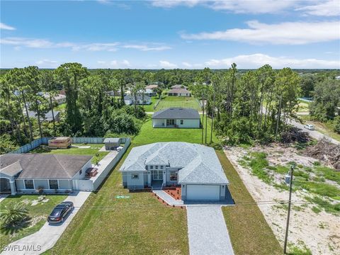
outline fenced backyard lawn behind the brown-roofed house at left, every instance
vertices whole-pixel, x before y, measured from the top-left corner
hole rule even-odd
[[[99,159],[103,159],[108,152],[98,152],[103,144],[72,144],[77,146],[90,146],[90,148],[78,148],[78,147],[69,147],[67,149],[47,149],[46,146],[40,146],[30,151],[30,153],[44,153],[44,154],[70,154],[70,155],[89,155],[94,156],[98,153]]]

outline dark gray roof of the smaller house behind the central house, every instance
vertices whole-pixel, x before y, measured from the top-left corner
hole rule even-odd
[[[174,119],[200,119],[200,114],[197,110],[192,108],[166,108],[161,111],[157,111],[152,115],[153,119],[166,119],[166,118],[174,118]]]

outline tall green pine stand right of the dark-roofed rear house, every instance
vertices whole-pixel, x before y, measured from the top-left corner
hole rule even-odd
[[[225,72],[205,68],[191,90],[203,104],[202,142],[212,142],[215,129],[232,145],[278,140],[295,117],[301,91],[296,72],[273,70],[268,64],[242,74],[236,64]],[[212,118],[210,134],[208,115]]]

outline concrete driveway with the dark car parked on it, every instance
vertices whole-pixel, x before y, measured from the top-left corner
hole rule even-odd
[[[43,252],[47,251],[47,249],[51,249],[90,194],[91,192],[86,191],[74,191],[73,193],[70,193],[65,201],[72,201],[74,203],[74,210],[69,214],[64,222],[62,222],[62,224],[49,225],[49,223],[46,222],[38,232],[8,244],[8,248],[13,250],[3,251],[1,254],[42,254]],[[25,250],[27,249],[26,247],[32,250],[27,251]]]

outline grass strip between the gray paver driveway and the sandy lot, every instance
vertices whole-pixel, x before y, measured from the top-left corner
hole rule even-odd
[[[224,152],[218,150],[216,153],[229,179],[229,191],[236,203],[235,206],[222,208],[235,254],[283,254],[271,227],[234,166],[225,157]]]

